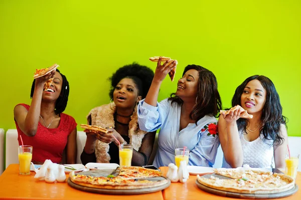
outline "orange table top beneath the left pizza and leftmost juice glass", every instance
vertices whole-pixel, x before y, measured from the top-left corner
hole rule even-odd
[[[0,199],[162,199],[162,191],[136,195],[108,195],[85,192],[70,187],[67,182],[47,183],[31,175],[20,175],[19,164],[11,164],[0,176]],[[68,175],[67,175],[68,177]]]

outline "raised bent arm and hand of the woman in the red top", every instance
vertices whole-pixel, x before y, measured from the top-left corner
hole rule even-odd
[[[35,136],[37,133],[44,84],[48,79],[53,78],[54,75],[55,70],[36,79],[35,92],[28,111],[21,105],[16,106],[14,109],[15,120],[22,132],[27,136]]]

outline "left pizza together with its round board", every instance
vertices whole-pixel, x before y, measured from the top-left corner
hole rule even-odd
[[[68,184],[79,190],[104,194],[141,194],[167,188],[171,181],[160,171],[138,166],[70,172]]]

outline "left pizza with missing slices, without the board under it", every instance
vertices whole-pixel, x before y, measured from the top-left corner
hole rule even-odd
[[[89,172],[71,172],[69,177],[78,185],[99,189],[140,189],[170,182],[160,171],[137,166],[120,167],[116,175],[97,175],[98,171],[101,173],[101,170],[92,170],[93,175],[89,175]]]

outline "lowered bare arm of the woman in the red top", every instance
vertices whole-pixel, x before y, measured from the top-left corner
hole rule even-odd
[[[67,164],[75,164],[77,159],[77,129],[75,128],[68,136],[66,145]]]

